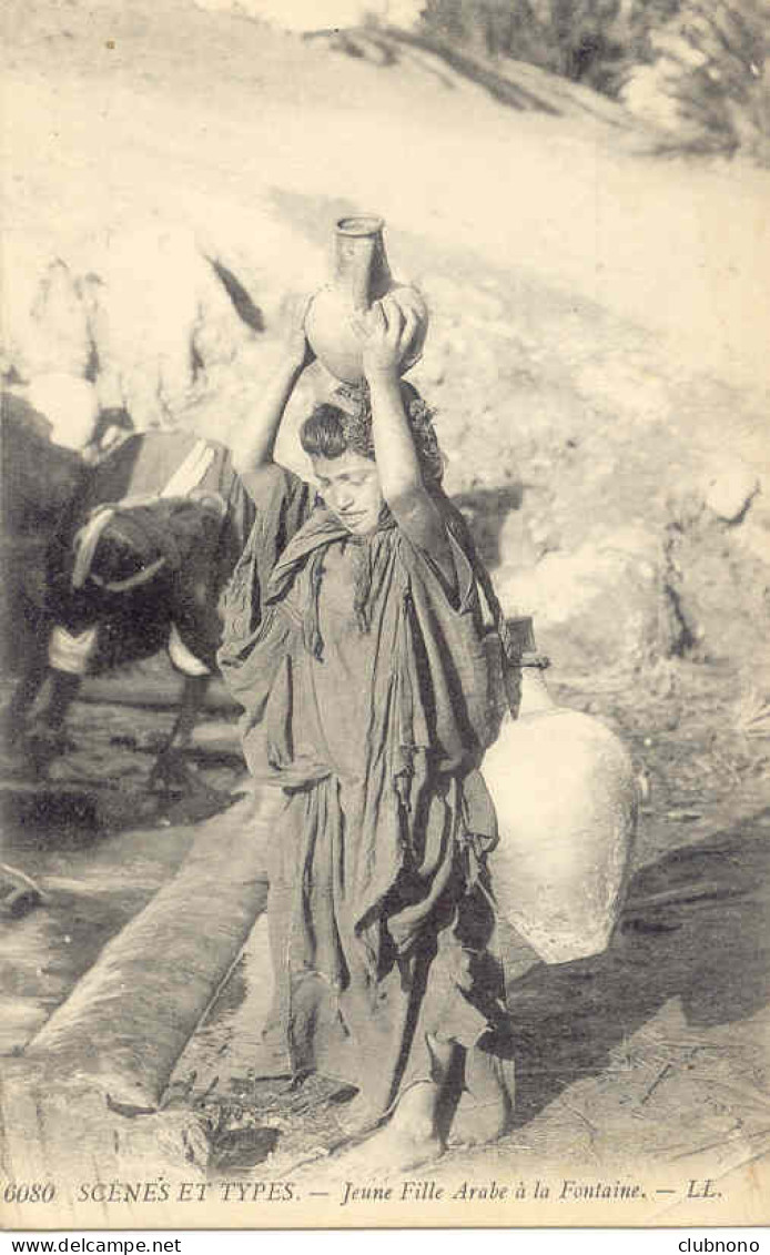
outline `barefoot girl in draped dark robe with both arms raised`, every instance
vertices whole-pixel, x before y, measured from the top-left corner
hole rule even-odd
[[[440,1151],[450,1094],[467,1091],[477,1136],[509,1113],[489,1049],[495,820],[478,772],[500,703],[473,548],[440,489],[430,414],[399,379],[413,328],[385,299],[359,330],[366,384],[301,429],[320,496],[272,463],[311,356],[301,320],[266,395],[260,513],[219,661],[273,798],[276,1067],[354,1084],[372,1151],[405,1168]]]

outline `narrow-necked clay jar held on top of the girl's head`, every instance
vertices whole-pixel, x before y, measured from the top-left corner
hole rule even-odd
[[[420,292],[399,284],[390,274],[382,218],[357,215],[340,218],[335,235],[334,274],[310,304],[305,328],[319,361],[336,379],[360,383],[364,378],[361,345],[351,319],[365,314],[375,301],[390,296],[401,309],[416,315],[416,328],[404,348],[400,373],[415,364],[428,334],[428,307]]]

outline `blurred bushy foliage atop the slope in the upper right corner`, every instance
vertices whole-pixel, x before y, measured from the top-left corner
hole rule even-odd
[[[428,0],[421,20],[622,99],[672,147],[770,159],[770,0]]]

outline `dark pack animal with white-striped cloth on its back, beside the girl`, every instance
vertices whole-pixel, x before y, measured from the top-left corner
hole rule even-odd
[[[218,602],[253,522],[229,452],[187,432],[129,435],[75,477],[53,528],[36,631],[8,724],[39,763],[64,745],[85,674],[167,648],[184,675],[181,710],[153,778],[189,742],[216,666]],[[45,497],[38,484],[38,499]],[[40,510],[46,508],[40,505]],[[33,708],[46,684],[41,712]]]

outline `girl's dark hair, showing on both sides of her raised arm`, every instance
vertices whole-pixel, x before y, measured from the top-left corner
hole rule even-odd
[[[334,404],[339,400],[340,404]],[[401,383],[401,402],[409,420],[423,478],[438,486],[444,473],[444,459],[433,425],[433,410],[416,388]],[[331,402],[316,405],[300,428],[300,443],[311,457],[339,458],[350,449],[375,459],[371,430],[371,398],[367,384],[342,384]]]

